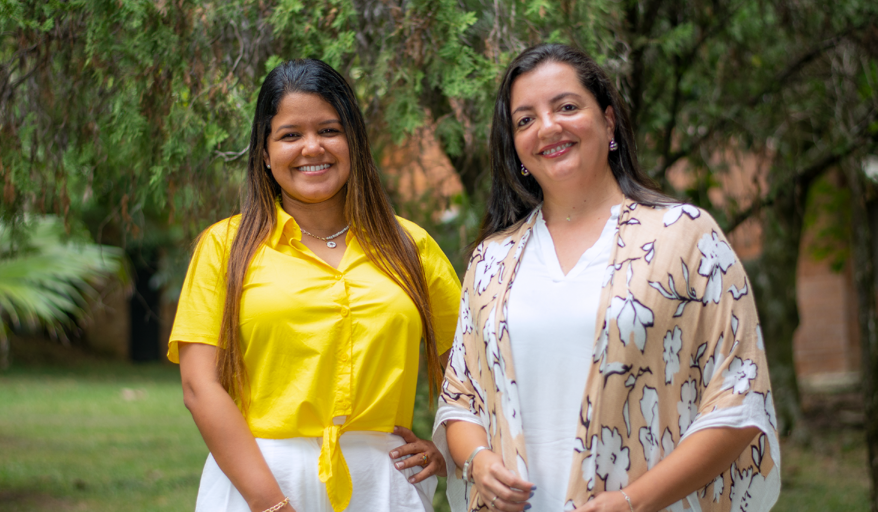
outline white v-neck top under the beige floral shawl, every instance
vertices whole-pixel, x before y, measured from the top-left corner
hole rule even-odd
[[[594,246],[567,273],[537,213],[533,234],[509,292],[507,325],[521,400],[534,510],[562,510],[570,480],[577,415],[586,388],[619,206]]]

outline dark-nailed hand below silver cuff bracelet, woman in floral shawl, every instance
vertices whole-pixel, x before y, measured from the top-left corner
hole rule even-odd
[[[508,470],[499,455],[490,450],[479,451],[471,465],[476,490],[489,510],[522,512],[530,508],[528,500],[536,487]]]

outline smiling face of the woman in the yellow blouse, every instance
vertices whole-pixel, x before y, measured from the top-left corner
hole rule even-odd
[[[284,96],[271,119],[265,152],[277,184],[302,203],[326,201],[348,183],[347,134],[335,108],[316,94]]]

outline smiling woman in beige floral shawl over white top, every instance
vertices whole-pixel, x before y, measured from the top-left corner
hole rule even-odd
[[[452,509],[767,512],[780,449],[751,286],[709,214],[638,169],[606,74],[526,50],[491,144],[434,429]]]

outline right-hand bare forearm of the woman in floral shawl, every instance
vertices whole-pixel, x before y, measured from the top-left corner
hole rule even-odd
[[[688,436],[670,455],[624,492],[635,512],[655,512],[706,486],[729,469],[759,429],[704,429]]]

